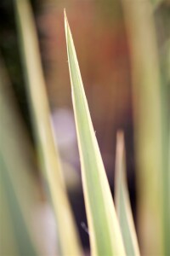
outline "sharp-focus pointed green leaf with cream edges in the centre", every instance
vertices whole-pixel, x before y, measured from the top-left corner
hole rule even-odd
[[[92,255],[125,255],[111,189],[90,118],[66,15],[65,36]]]

